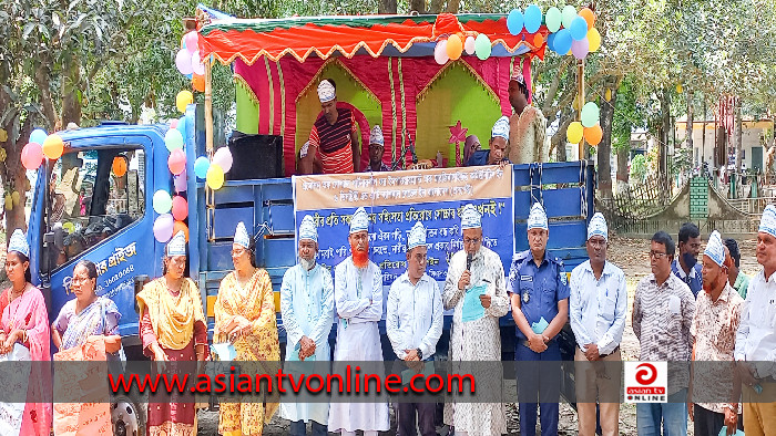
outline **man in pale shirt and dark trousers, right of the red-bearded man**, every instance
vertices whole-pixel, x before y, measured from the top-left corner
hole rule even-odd
[[[415,224],[407,238],[407,272],[390,286],[386,331],[396,356],[412,362],[430,361],[442,335],[442,295],[426,273],[426,228]],[[435,403],[395,403],[399,436],[436,436]],[[416,419],[417,412],[417,419]]]

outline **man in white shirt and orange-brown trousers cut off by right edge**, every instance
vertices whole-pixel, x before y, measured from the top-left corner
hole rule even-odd
[[[757,262],[763,269],[752,278],[736,333],[735,359],[743,383],[746,435],[769,435],[776,428],[776,403],[760,403],[776,395],[776,207],[763,211],[757,232]],[[751,363],[747,363],[751,362]]]

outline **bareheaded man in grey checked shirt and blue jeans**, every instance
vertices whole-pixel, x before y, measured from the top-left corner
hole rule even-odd
[[[639,282],[633,301],[633,332],[641,344],[641,361],[690,361],[695,297],[682,279],[671,273],[675,253],[668,233],[658,231],[652,237],[652,274]],[[668,366],[668,402],[636,405],[639,436],[661,435],[661,423],[665,436],[687,434],[690,367],[671,371]]]

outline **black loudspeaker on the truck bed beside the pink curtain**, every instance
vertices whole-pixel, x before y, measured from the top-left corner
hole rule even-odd
[[[284,177],[283,136],[246,135],[234,132],[229,138],[232,169],[229,180]]]

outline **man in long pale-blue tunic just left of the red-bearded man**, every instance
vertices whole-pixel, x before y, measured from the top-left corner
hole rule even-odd
[[[315,261],[318,230],[309,215],[302,219],[298,233],[299,263],[286,270],[280,284],[280,315],[286,329],[286,361],[328,361],[329,333],[334,322],[331,272]],[[312,434],[327,434],[328,403],[282,403],[280,417],[292,422],[289,434],[304,436],[306,423]]]

